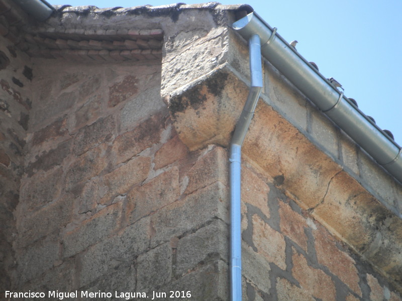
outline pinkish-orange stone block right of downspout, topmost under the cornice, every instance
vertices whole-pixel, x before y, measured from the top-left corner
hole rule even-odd
[[[241,198],[242,202],[251,204],[270,217],[268,207],[269,186],[261,180],[250,168],[242,166],[241,171]]]

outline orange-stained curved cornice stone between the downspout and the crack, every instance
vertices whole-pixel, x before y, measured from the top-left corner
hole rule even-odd
[[[267,122],[268,121],[268,122]],[[264,156],[261,156],[264,149]],[[342,169],[272,108],[260,103],[243,144],[243,155],[272,177],[283,176],[280,188],[302,208],[314,207],[328,183]]]

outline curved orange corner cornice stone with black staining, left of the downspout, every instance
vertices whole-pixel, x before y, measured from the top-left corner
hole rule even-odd
[[[246,85],[226,68],[202,80],[168,100],[176,131],[190,150],[228,145],[242,110],[242,103],[233,99],[245,100],[248,93]]]

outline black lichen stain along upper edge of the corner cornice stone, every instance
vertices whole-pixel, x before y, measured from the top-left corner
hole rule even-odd
[[[211,96],[220,97],[227,79],[227,73],[216,73],[203,84],[194,86],[181,95],[171,98],[169,104],[171,115],[175,117],[176,113],[184,112],[188,107],[198,110]]]

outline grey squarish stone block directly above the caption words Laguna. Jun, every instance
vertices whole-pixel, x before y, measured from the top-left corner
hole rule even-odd
[[[172,248],[160,245],[137,258],[137,291],[151,291],[172,279]]]

